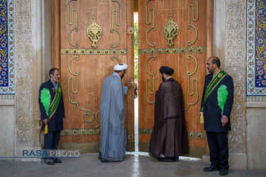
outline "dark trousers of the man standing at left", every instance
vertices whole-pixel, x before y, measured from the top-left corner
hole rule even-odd
[[[57,149],[60,141],[60,131],[49,131],[45,134],[44,149]]]

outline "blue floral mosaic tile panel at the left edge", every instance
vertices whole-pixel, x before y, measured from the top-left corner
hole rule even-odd
[[[0,94],[14,94],[13,0],[0,0]]]

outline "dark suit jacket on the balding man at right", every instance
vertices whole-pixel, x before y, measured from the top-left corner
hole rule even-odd
[[[204,91],[201,99],[201,108],[204,103],[205,92],[207,86],[209,86],[213,74],[208,74],[205,76]],[[221,108],[218,106],[218,94],[217,91],[221,85],[227,86],[228,96],[226,100],[226,105],[223,109],[223,115],[228,117],[228,123],[223,127],[221,124]],[[233,107],[233,79],[231,76],[226,75],[216,86],[214,91],[212,91],[204,103],[204,130],[209,132],[228,132],[231,130],[230,115]]]

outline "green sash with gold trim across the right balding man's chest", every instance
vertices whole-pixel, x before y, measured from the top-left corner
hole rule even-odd
[[[228,75],[226,72],[224,72],[223,70],[220,70],[213,79],[211,79],[211,82],[209,84],[209,86],[206,89],[205,92],[205,97],[204,97],[204,103],[206,101],[206,99],[208,98],[209,94],[211,93],[211,91],[214,91],[214,89],[216,88],[216,86],[220,83],[220,81],[223,79],[224,76]],[[203,103],[203,105],[204,105]],[[201,108],[201,112],[203,112],[203,106]]]

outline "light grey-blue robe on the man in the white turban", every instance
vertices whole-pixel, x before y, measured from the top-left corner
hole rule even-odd
[[[101,89],[101,157],[113,161],[122,161],[125,154],[126,132],[124,95],[127,87],[122,86],[118,74],[113,73],[104,79]]]

